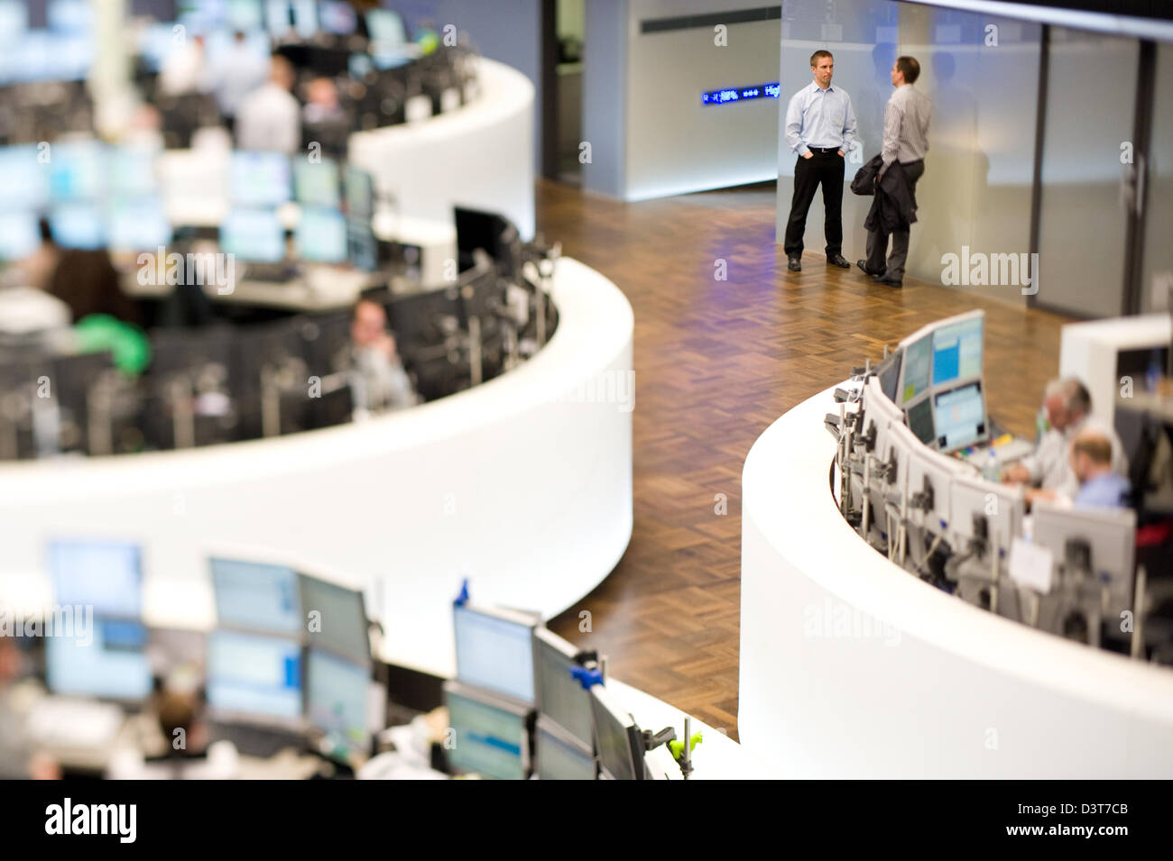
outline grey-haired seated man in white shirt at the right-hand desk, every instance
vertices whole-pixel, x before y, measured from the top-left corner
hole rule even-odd
[[[1091,415],[1092,398],[1078,380],[1052,380],[1043,395],[1043,409],[1050,430],[1038,439],[1035,453],[1010,466],[1003,481],[1028,484],[1028,500],[1071,499],[1079,491],[1079,479],[1071,469],[1071,442],[1085,430],[1094,430],[1112,444],[1112,469],[1121,476],[1128,471],[1124,446],[1116,431]]]

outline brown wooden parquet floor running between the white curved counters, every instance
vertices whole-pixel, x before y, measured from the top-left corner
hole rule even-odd
[[[618,285],[636,319],[631,544],[550,627],[605,654],[610,675],[733,738],[741,467],[758,436],[853,365],[877,361],[884,343],[981,307],[989,409],[1033,437],[1069,322],[910,279],[900,291],[877,286],[828,267],[821,250],[789,273],[774,214],[772,185],[635,204],[537,185],[537,230]],[[714,278],[718,260],[727,280]]]

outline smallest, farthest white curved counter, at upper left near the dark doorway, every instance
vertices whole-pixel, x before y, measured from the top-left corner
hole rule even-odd
[[[351,135],[348,158],[404,216],[450,224],[453,206],[499,212],[534,238],[534,84],[480,59],[477,95],[418,123]]]

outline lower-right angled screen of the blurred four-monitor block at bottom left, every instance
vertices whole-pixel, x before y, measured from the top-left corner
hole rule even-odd
[[[310,725],[334,746],[367,752],[371,665],[311,647],[305,660],[305,710]]]

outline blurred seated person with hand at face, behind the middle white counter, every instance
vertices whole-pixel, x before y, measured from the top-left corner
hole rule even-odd
[[[351,394],[358,415],[399,410],[419,403],[412,381],[387,333],[387,312],[360,300],[351,320]]]

